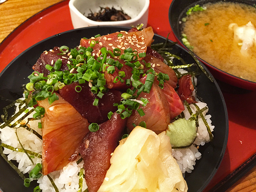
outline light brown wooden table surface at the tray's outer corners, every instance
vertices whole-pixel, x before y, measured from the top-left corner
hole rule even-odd
[[[8,0],[0,4],[0,42],[22,22],[61,0]],[[226,192],[256,191],[256,166]]]

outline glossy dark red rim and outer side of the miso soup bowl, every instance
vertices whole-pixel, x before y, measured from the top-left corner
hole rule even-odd
[[[189,49],[185,46],[185,44],[182,42],[182,40],[180,38],[181,34],[176,31],[176,28],[174,28],[172,20],[171,20],[171,18],[172,18],[171,12],[172,12],[172,10],[175,11],[174,3],[177,1],[179,1],[179,0],[172,0],[172,3],[170,5],[169,14],[168,14],[169,15],[169,23],[170,23],[170,27],[172,29],[172,33],[174,34],[174,37],[176,38],[178,43],[180,45],[182,45],[184,48],[186,48],[186,50],[189,51]],[[218,0],[218,1],[221,1],[221,0]],[[204,2],[204,4],[207,3],[206,0],[196,0],[192,4],[198,4],[198,2]],[[176,22],[178,23],[178,20]],[[213,74],[213,76],[215,78],[217,78],[218,80],[221,80],[223,82],[226,82],[232,86],[236,86],[239,88],[243,88],[243,89],[247,89],[247,90],[256,90],[256,82],[246,80],[246,79],[240,78],[238,76],[232,75],[228,72],[225,72],[225,71],[209,64],[208,62],[206,62],[205,60],[203,60],[202,58],[197,56],[194,52],[193,52],[193,54],[208,67],[208,69]]]

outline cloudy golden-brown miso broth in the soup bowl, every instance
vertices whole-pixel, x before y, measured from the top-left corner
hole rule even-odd
[[[193,52],[209,64],[232,75],[256,82],[256,45],[242,54],[241,42],[234,40],[228,26],[256,26],[256,8],[245,4],[218,2],[206,10],[192,12],[184,22],[183,33],[194,46]]]

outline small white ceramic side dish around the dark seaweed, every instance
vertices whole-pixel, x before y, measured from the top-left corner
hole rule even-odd
[[[138,24],[148,24],[149,0],[70,0],[70,15],[74,28],[88,26],[137,26]],[[100,11],[102,8],[112,8],[123,10],[125,14],[131,17],[124,21],[94,21],[86,16],[90,13]]]

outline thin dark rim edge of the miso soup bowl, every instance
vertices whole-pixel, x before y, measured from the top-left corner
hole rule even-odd
[[[176,0],[176,1],[178,1],[178,0]],[[196,2],[192,3],[191,5],[197,4],[197,2],[199,2],[199,1],[201,1],[201,0],[197,0]],[[218,1],[223,2],[222,0],[218,0]],[[177,34],[177,33],[175,32],[175,30],[174,30],[174,28],[173,28],[173,25],[172,25],[172,22],[171,22],[171,17],[172,17],[171,11],[172,11],[172,7],[174,6],[174,2],[175,2],[175,0],[172,0],[172,3],[171,3],[170,8],[169,8],[169,23],[170,23],[170,27],[171,27],[172,32],[173,32],[174,36],[176,37],[176,39],[184,46],[184,48],[185,48],[186,50],[189,50],[189,49],[186,47],[186,45],[180,40],[180,34]],[[194,52],[193,52],[193,54],[194,54],[198,59],[200,59],[201,61],[203,61],[206,65],[210,66],[211,68],[214,68],[216,71],[220,71],[220,72],[221,72],[222,74],[224,74],[225,76],[232,76],[232,78],[234,78],[234,79],[243,81],[243,82],[245,82],[245,83],[250,83],[250,84],[253,84],[253,85],[255,84],[255,86],[256,86],[256,82],[250,81],[250,80],[247,80],[247,79],[243,79],[243,78],[240,78],[240,77],[238,77],[238,76],[232,75],[232,74],[230,74],[230,73],[228,73],[228,72],[225,72],[225,71],[223,71],[223,70],[221,70],[221,69],[219,69],[219,68],[216,68],[215,66],[209,64],[208,62],[206,62],[205,60],[203,60],[202,58],[200,58],[199,56],[197,56]]]

